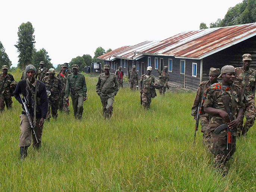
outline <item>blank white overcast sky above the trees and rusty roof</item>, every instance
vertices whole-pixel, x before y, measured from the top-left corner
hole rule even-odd
[[[208,3],[209,2],[209,3]],[[90,54],[146,40],[163,40],[182,31],[209,27],[242,0],[1,1],[0,41],[17,66],[18,27],[30,21],[35,48],[45,48],[54,66]]]

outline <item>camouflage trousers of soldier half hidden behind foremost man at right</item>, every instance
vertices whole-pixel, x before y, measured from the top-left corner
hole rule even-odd
[[[203,133],[203,143],[210,149],[211,145],[211,130],[209,126],[209,115],[203,114],[200,116],[201,132]]]

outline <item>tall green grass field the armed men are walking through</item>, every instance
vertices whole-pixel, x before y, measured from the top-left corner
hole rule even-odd
[[[21,73],[14,73],[20,79]],[[139,91],[120,89],[113,116],[102,117],[96,77],[85,75],[88,100],[82,120],[73,109],[44,124],[42,148],[19,159],[21,104],[0,116],[0,191],[256,191],[255,126],[237,139],[223,177],[190,116],[195,92],[174,91],[140,107]],[[158,91],[157,91],[158,93]],[[200,129],[200,128],[199,128]]]

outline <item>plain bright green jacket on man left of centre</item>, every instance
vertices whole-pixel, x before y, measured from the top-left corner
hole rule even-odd
[[[76,81],[76,79],[77,79],[77,81]],[[71,73],[67,76],[66,89],[65,89],[66,98],[68,98],[71,88],[79,96],[87,97],[86,82],[85,82],[84,75],[82,73],[77,73],[77,77],[74,76],[74,73]]]

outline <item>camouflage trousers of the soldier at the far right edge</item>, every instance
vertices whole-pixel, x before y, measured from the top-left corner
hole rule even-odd
[[[250,127],[253,126],[256,116],[255,99],[251,99],[249,101],[244,99],[243,103],[245,105],[245,110],[243,111],[243,116],[241,117],[240,124],[238,125],[238,132],[241,132],[243,129],[247,132]],[[244,116],[246,117],[245,123]]]

